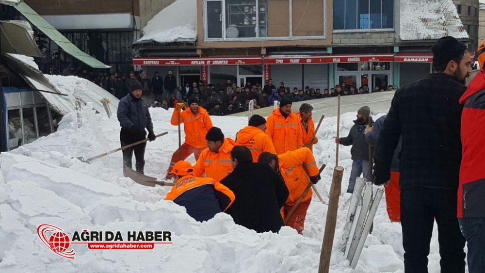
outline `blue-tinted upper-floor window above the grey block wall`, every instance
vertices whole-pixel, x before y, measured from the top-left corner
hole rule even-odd
[[[333,2],[334,30],[384,30],[394,26],[394,0]]]

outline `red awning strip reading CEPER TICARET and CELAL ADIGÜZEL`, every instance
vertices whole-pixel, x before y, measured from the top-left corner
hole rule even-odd
[[[322,55],[322,56],[265,56],[264,64],[333,64],[361,62],[392,62],[394,54]]]

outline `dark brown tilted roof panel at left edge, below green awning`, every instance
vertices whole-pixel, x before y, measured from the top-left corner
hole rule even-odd
[[[0,21],[1,52],[42,57],[26,21]]]

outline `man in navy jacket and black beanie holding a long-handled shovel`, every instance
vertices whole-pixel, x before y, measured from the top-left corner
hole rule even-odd
[[[129,85],[129,89],[131,93],[123,97],[118,104],[121,146],[144,140],[146,136],[145,128],[148,130],[150,141],[154,141],[155,134],[153,133],[153,124],[148,111],[149,105],[142,98],[142,84],[138,81],[133,81]],[[143,174],[145,168],[145,147],[146,142],[123,150],[123,165],[131,168],[131,158],[134,151],[136,171]]]

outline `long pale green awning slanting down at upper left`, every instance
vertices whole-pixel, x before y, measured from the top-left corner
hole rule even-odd
[[[25,16],[33,25],[35,25],[41,32],[46,34],[53,42],[59,47],[65,50],[65,52],[72,55],[74,58],[80,60],[84,64],[87,64],[93,68],[110,68],[106,64],[103,64],[95,58],[81,51],[75,45],[73,45],[61,32],[58,32],[52,27],[44,18],[38,15],[32,8],[26,3],[20,3],[16,6],[16,9]]]

